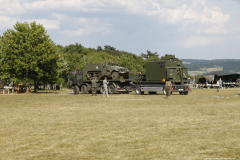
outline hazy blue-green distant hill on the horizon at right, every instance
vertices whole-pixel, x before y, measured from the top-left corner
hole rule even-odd
[[[240,59],[181,59],[189,71],[200,71],[203,68],[219,68],[222,67],[224,71],[240,72]]]

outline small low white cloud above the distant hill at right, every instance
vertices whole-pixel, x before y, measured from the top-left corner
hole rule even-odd
[[[221,37],[208,37],[208,36],[190,36],[183,42],[183,48],[196,48],[201,46],[209,46],[213,44],[222,43]]]

